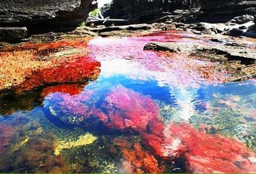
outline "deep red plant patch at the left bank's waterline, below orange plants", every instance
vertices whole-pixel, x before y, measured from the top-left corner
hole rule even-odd
[[[58,67],[33,71],[19,90],[27,91],[41,85],[54,83],[83,82],[95,79],[101,64],[87,56],[78,57],[75,61],[63,63]]]

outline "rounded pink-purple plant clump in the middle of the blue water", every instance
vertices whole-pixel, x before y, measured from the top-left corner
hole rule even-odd
[[[148,122],[158,116],[158,106],[151,98],[123,86],[112,89],[102,106],[107,109],[107,126],[121,131],[144,132]]]

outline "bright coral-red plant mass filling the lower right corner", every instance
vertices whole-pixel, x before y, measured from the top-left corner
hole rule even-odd
[[[237,139],[207,134],[187,123],[172,122],[164,139],[144,136],[165,159],[186,157],[187,171],[195,173],[251,173],[256,171],[254,152]],[[151,139],[154,143],[151,143]]]

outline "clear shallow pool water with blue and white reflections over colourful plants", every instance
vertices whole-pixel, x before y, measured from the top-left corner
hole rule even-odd
[[[93,39],[96,80],[0,101],[0,172],[253,172],[256,81],[204,78],[195,67],[217,63],[143,50],[151,41],[214,44],[175,32]],[[230,170],[209,166],[228,154]]]

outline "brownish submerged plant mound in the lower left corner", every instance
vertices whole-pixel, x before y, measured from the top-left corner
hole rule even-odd
[[[55,139],[50,135],[31,136],[16,151],[5,150],[0,171],[13,173],[66,173],[69,167],[61,155],[54,155]]]

